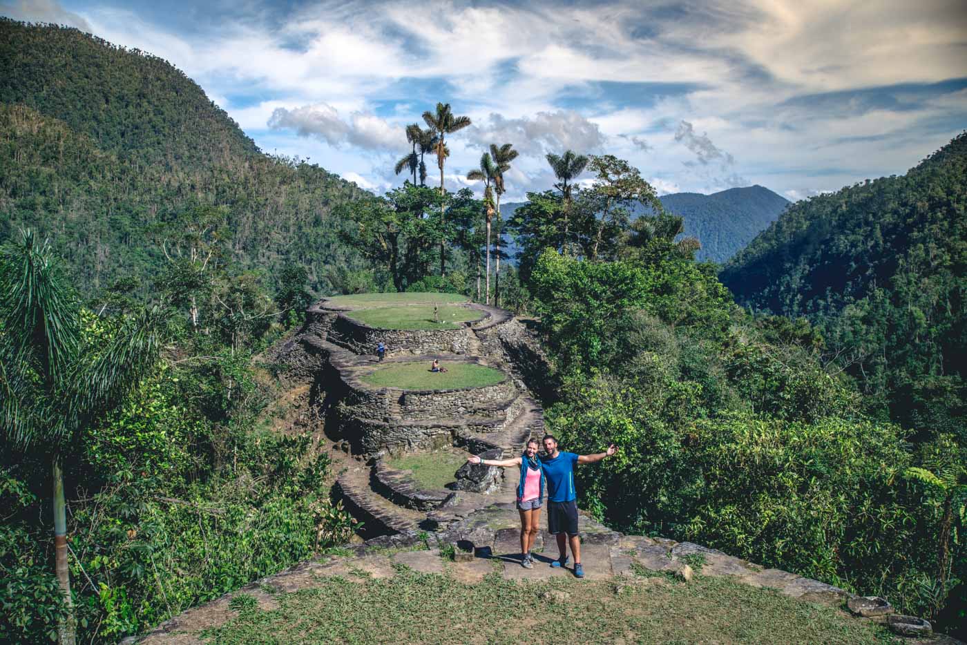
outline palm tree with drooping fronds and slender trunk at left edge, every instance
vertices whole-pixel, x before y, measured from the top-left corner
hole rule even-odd
[[[27,230],[0,258],[0,320],[0,435],[10,448],[34,447],[50,459],[54,569],[68,608],[57,633],[73,643],[62,460],[81,430],[120,404],[155,364],[161,317],[142,313],[103,346],[85,346],[79,308],[49,247]]]

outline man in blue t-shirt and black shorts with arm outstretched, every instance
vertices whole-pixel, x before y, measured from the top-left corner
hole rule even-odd
[[[557,450],[557,438],[545,434],[543,447],[546,456],[541,459],[544,478],[547,481],[547,532],[557,537],[557,550],[561,557],[550,564],[564,567],[568,564],[568,542],[574,556],[574,577],[584,577],[581,567],[581,541],[577,536],[577,490],[574,488],[574,464],[595,463],[618,452],[614,444],[598,454],[561,453]]]

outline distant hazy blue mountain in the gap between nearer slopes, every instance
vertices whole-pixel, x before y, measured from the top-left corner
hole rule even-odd
[[[674,192],[659,200],[666,210],[685,218],[683,235],[702,244],[695,258],[719,263],[745,247],[789,205],[785,197],[758,185],[712,194]],[[501,215],[510,218],[521,203],[502,205]],[[632,217],[643,213],[638,205]]]

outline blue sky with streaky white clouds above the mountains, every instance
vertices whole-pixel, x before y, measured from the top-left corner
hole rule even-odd
[[[448,189],[481,191],[467,172],[513,143],[507,201],[550,189],[544,156],[567,149],[627,159],[659,194],[797,200],[902,174],[967,128],[963,0],[199,4],[0,0],[0,15],[158,55],[263,151],[380,193],[437,102],[472,121],[448,137]]]

